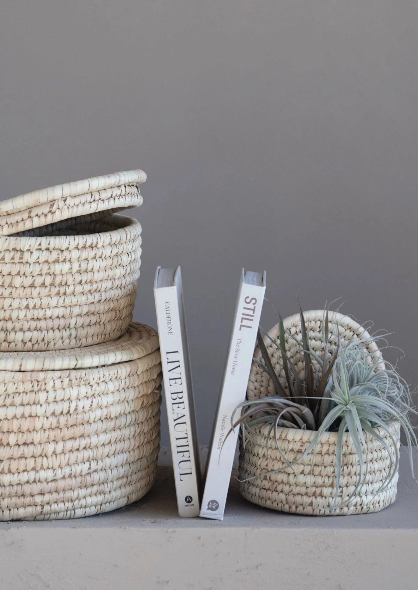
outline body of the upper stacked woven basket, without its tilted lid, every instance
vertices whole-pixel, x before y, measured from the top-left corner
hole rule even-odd
[[[68,235],[71,226],[79,233]],[[132,319],[139,222],[112,215],[54,227],[63,235],[0,237],[0,351],[95,345],[123,335]]]

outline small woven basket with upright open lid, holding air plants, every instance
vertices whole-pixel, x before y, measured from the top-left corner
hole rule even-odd
[[[323,355],[324,343],[322,341],[323,310],[304,313],[305,323],[310,337],[310,346],[319,356]],[[284,328],[301,340],[301,324],[299,314],[284,320]],[[336,343],[338,332],[341,345],[347,344],[352,339],[367,339],[368,332],[348,316],[333,313],[329,320],[330,343]],[[337,332],[338,330],[338,332]],[[268,337],[269,336],[269,337]],[[272,359],[277,375],[285,382],[285,375],[278,343],[279,326],[274,326],[264,342]],[[294,363],[303,378],[304,364],[302,353],[297,350],[294,340],[288,336],[287,350],[289,358]],[[381,353],[376,343],[370,341],[368,349],[376,360],[381,360]],[[257,348],[255,358],[261,359],[261,352]],[[381,360],[380,367],[383,366]],[[268,375],[256,363],[252,364],[249,377],[247,397],[248,399],[264,398],[276,395],[274,385]],[[360,486],[358,494],[347,504],[343,504],[353,493],[360,474],[360,463],[351,441],[350,434],[346,433],[343,444],[343,463],[341,468],[340,487],[338,489],[337,509],[333,507],[336,486],[336,432],[325,432],[318,442],[315,454],[310,453],[296,463],[292,468],[286,467],[284,458],[277,447],[275,435],[269,437],[268,450],[266,447],[269,427],[261,425],[254,427],[254,435],[251,440],[245,441],[245,448],[241,444],[239,458],[240,490],[247,500],[282,512],[297,514],[338,515],[361,514],[366,512],[378,512],[389,506],[396,499],[397,479],[395,474],[391,484],[383,491],[379,490],[386,477],[390,466],[390,456],[387,450],[375,438],[364,432],[367,444],[367,457],[369,461],[368,476]],[[391,433],[399,447],[400,425],[393,422],[390,425]],[[390,437],[382,430],[377,429],[378,434],[386,442],[394,459],[395,449]],[[297,428],[278,428],[277,438],[279,447],[290,463],[297,461],[307,449],[314,437],[314,431],[299,430]],[[271,473],[275,470],[279,473]]]

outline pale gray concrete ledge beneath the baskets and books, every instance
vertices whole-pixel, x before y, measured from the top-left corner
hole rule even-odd
[[[403,454],[397,501],[377,514],[302,517],[243,500],[225,519],[180,519],[163,449],[156,485],[125,509],[0,523],[2,589],[346,589],[418,586],[418,486]]]

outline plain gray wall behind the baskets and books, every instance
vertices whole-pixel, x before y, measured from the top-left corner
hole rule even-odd
[[[147,172],[136,320],[181,264],[202,442],[242,266],[284,316],[341,296],[418,380],[417,22],[415,0],[2,3],[1,198]]]

